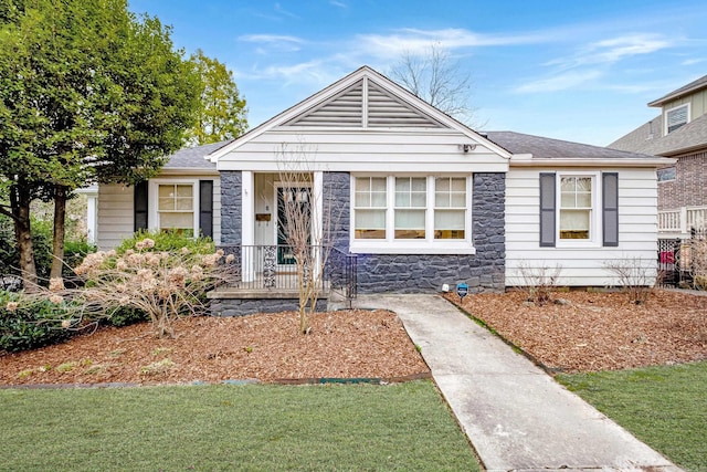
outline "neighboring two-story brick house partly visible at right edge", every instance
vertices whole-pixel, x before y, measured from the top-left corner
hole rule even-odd
[[[648,103],[661,114],[610,148],[677,158],[659,169],[658,229],[687,233],[707,223],[707,75]]]

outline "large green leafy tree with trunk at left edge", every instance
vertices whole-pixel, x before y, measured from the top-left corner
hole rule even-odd
[[[0,181],[9,200],[0,212],[14,220],[25,282],[36,282],[32,199],[65,199],[95,181],[134,183],[180,147],[199,75],[170,34],[126,0],[0,0]]]

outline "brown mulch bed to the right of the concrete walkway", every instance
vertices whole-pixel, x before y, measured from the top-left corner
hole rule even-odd
[[[456,295],[449,295],[456,298]],[[524,304],[523,292],[479,294],[464,308],[551,371],[595,371],[707,359],[707,296],[656,290],[645,305],[624,293],[556,293],[568,305]]]

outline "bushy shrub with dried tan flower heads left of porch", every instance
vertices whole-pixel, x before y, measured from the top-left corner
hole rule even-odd
[[[193,248],[158,252],[154,247],[155,241],[145,238],[123,254],[88,254],[75,270],[84,289],[66,296],[92,318],[109,317],[119,307],[141,310],[157,336],[173,336],[176,317],[204,314],[207,292],[231,280],[235,265],[221,250],[201,254]]]

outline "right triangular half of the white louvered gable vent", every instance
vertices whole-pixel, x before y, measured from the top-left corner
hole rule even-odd
[[[403,104],[376,85],[368,85],[368,126],[437,128],[440,123]]]

